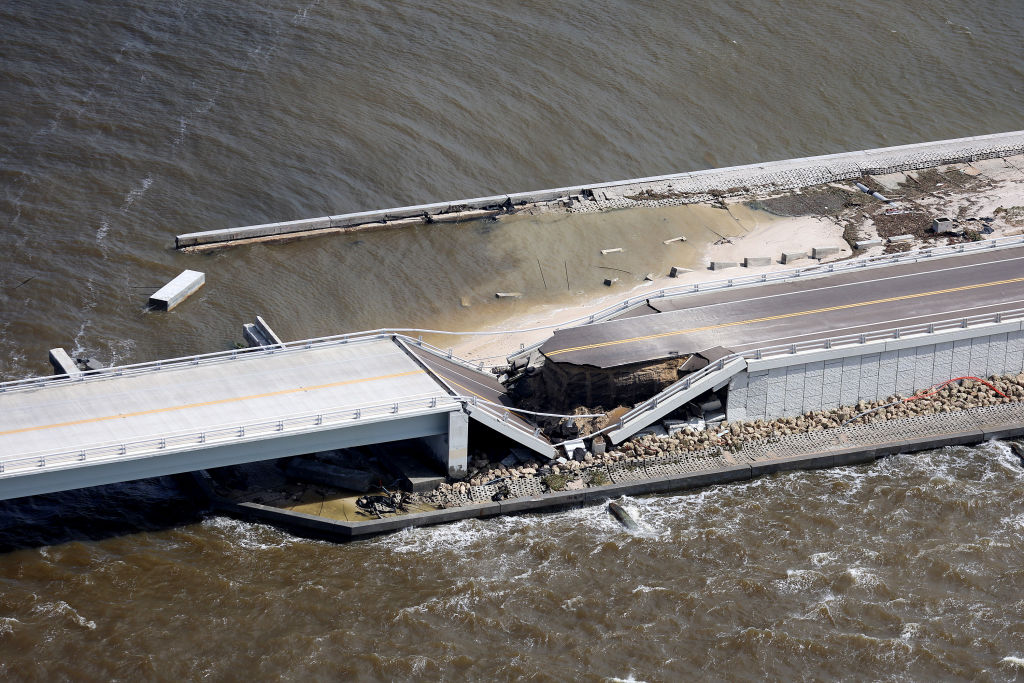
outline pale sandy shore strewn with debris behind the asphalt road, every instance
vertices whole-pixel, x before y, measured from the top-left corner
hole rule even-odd
[[[641,296],[645,292],[653,293],[664,288],[680,285],[707,283],[730,276],[770,273],[794,267],[831,263],[857,257],[881,256],[885,253],[898,253],[964,241],[961,236],[935,234],[928,232],[927,229],[916,229],[915,232],[907,236],[892,236],[893,230],[889,227],[889,223],[903,218],[903,222],[896,223],[896,225],[900,226],[899,229],[906,229],[902,227],[907,224],[906,217],[915,219],[916,226],[920,228],[922,223],[930,225],[933,218],[951,215],[958,217],[962,224],[976,224],[979,234],[982,233],[982,230],[987,230],[983,232],[986,239],[1022,234],[1024,233],[1024,171],[1021,169],[1024,169],[1024,155],[1018,155],[1012,159],[1012,162],[1009,159],[998,158],[987,162],[936,166],[918,172],[905,171],[872,176],[870,180],[877,182],[880,189],[893,195],[893,198],[889,198],[890,202],[872,199],[859,190],[853,181],[810,185],[803,188],[803,191],[776,193],[771,196],[717,199],[707,206],[718,207],[717,210],[725,210],[730,214],[733,214],[734,210],[741,209],[742,211],[736,211],[739,213],[738,216],[732,215],[736,223],[740,227],[744,227],[744,221],[748,223],[753,221],[754,224],[746,228],[743,234],[726,236],[718,241],[719,244],[706,246],[700,252],[697,267],[689,272],[678,278],[672,278],[669,273],[657,273],[652,281],[642,283],[629,291],[609,292],[605,296],[592,298],[589,302],[578,305],[539,303],[532,305],[526,312],[506,318],[500,326],[487,326],[481,330],[509,332],[509,334],[503,334],[501,338],[492,336],[456,337],[455,340],[445,345],[451,346],[456,355],[466,359],[498,358],[515,353],[519,350],[520,345],[529,346],[547,338],[555,328],[563,327],[577,318],[601,311],[617,301]],[[948,176],[942,175],[941,177],[953,177],[953,174],[962,174],[964,177],[972,179],[967,182],[975,184],[964,186],[963,184],[954,185],[952,181],[936,181],[931,175],[932,173],[948,174]],[[921,190],[911,200],[904,197],[897,198],[893,193],[893,190],[907,185],[921,186],[922,181],[919,177],[929,179],[933,185],[937,186],[929,186]],[[787,203],[796,204],[798,207],[803,204],[806,207],[817,196],[833,190],[841,193],[839,197],[846,199],[852,206],[843,207],[834,213],[823,211],[816,214],[805,213],[804,215],[769,214],[767,211],[754,210],[750,206],[754,204],[758,207],[762,205],[770,207],[775,202],[781,204],[783,209],[786,208]],[[825,197],[825,200],[835,201],[828,197]],[[615,210],[630,211],[631,209]],[[898,213],[892,213],[894,211]],[[886,236],[883,232],[890,234]],[[897,241],[890,242],[888,237],[896,237]],[[851,244],[851,241],[867,243],[869,246],[857,248]],[[835,248],[838,251],[821,259],[811,258],[812,250],[816,247]],[[803,252],[806,257],[798,260],[787,259],[783,263],[780,257],[787,252]],[[770,264],[755,267],[738,265],[724,270],[710,268],[710,263],[713,261],[741,264],[745,258],[768,258]],[[549,326],[549,329],[516,332],[541,326]]]

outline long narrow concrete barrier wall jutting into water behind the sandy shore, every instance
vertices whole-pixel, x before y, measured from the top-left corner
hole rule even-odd
[[[614,180],[611,182],[585,183],[567,187],[555,187],[528,193],[494,195],[454,202],[437,202],[415,206],[397,207],[379,211],[319,216],[302,220],[263,223],[226,229],[203,230],[179,234],[175,246],[195,247],[265,238],[271,236],[345,228],[367,223],[389,223],[410,220],[411,224],[422,222],[426,216],[453,214],[464,211],[496,209],[507,203],[513,206],[524,204],[564,201],[567,207],[578,211],[599,211],[622,206],[647,206],[650,202],[632,202],[626,196],[647,187],[668,189],[679,198],[662,204],[679,204],[697,201],[699,196],[711,190],[724,191],[742,188],[744,191],[757,188],[795,188],[840,179],[859,177],[862,173],[892,173],[900,170],[929,168],[941,164],[991,159],[1024,153],[1024,131],[977,135],[952,140],[920,142],[893,147],[845,152],[818,157],[804,157],[761,164],[746,164],[727,168],[689,171],[669,175]],[[593,198],[595,201],[577,201],[573,197]]]

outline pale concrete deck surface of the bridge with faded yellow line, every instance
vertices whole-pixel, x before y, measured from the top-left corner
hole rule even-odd
[[[393,340],[241,354],[0,393],[0,464],[26,455],[436,396],[444,388]]]

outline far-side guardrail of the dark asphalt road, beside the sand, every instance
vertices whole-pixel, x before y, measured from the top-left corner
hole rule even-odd
[[[994,240],[982,240],[980,242],[966,242],[958,245],[930,247],[928,249],[918,249],[914,251],[901,252],[899,254],[881,254],[879,256],[848,259],[845,261],[834,261],[831,263],[821,263],[818,265],[810,265],[800,268],[788,268],[772,272],[762,272],[752,275],[739,275],[736,278],[724,278],[722,280],[712,280],[702,283],[666,287],[653,292],[646,292],[644,294],[638,294],[637,296],[624,299],[606,308],[602,308],[595,313],[563,323],[560,327],[568,328],[575,327],[578,325],[600,323],[653,299],[674,299],[680,296],[706,294],[708,292],[731,289],[733,287],[750,287],[752,285],[765,285],[768,283],[780,283],[802,279],[806,280],[807,278],[826,275],[837,272],[847,272],[851,270],[860,270],[862,268],[872,268],[887,265],[898,265],[900,263],[916,263],[931,258],[959,256],[961,254],[973,254],[992,249],[1007,249],[1021,245],[1024,245],[1024,236],[1013,236],[1007,238],[996,238]],[[508,358],[511,360],[512,358],[523,356],[539,349],[544,345],[544,341],[541,341],[536,344],[525,346],[514,353],[510,353]]]

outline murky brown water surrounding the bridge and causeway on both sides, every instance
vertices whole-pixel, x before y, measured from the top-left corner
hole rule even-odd
[[[172,251],[178,232],[1017,129],[1024,111],[1018,0],[9,0],[0,29],[2,379],[46,373],[57,345],[218,350],[255,313],[286,338],[471,328],[602,294],[599,266],[628,291],[709,225],[549,216],[208,256]],[[202,293],[146,312],[186,267]],[[1012,679],[1020,492],[986,445],[632,501],[640,536],[589,508],[349,546],[199,520],[165,481],[5,503],[0,672]]]

